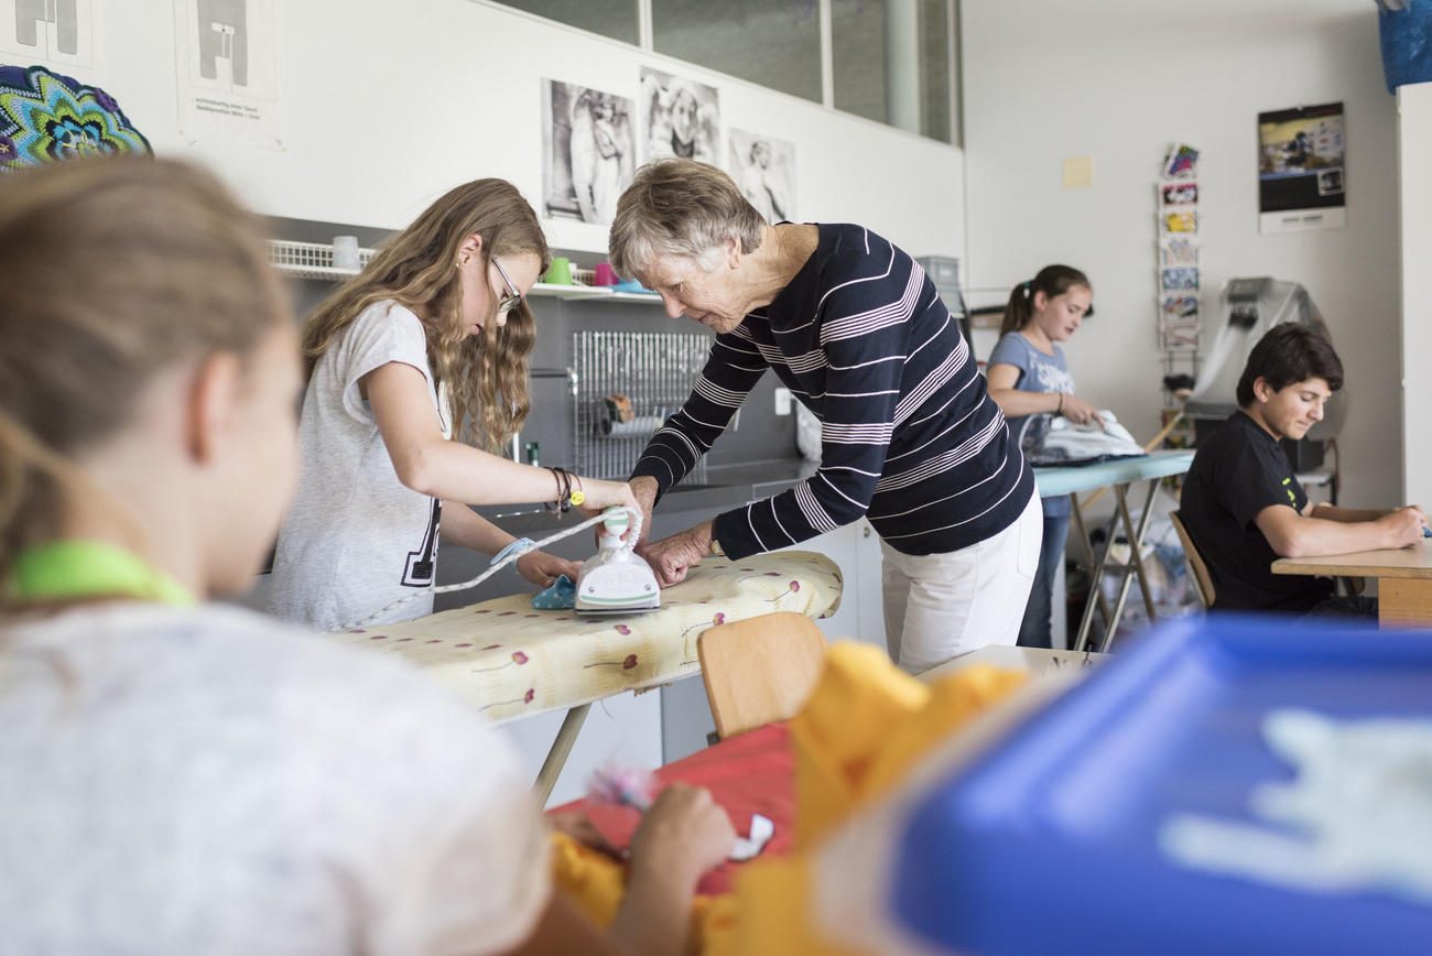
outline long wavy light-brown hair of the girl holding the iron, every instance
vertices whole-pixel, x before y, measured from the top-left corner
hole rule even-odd
[[[384,243],[358,278],[322,302],[304,323],[305,374],[338,335],[375,302],[392,301],[422,319],[434,382],[447,384],[453,436],[497,452],[521,428],[531,398],[527,358],[537,332],[526,298],[497,328],[498,296],[488,305],[481,336],[461,315],[457,259],[463,242],[483,238],[484,266],[493,256],[533,253],[541,272],[551,265],[537,213],[503,179],[478,179],[450,190],[412,225]]]

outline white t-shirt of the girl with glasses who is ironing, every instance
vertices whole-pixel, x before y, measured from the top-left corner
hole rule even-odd
[[[422,374],[438,428],[451,436],[422,322],[394,302],[368,306],[314,366],[304,396],[298,491],[266,594],[266,610],[286,621],[331,631],[410,595],[374,623],[432,613],[440,502],[398,481],[358,391],[358,379],[388,362]]]

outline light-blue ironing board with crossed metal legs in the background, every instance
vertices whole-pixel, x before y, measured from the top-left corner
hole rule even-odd
[[[1128,600],[1128,587],[1133,584],[1136,577],[1138,578],[1138,588],[1144,595],[1144,608],[1148,611],[1148,621],[1153,623],[1157,620],[1153,591],[1148,588],[1148,578],[1144,574],[1144,562],[1140,557],[1140,550],[1144,541],[1144,531],[1148,530],[1148,517],[1153,512],[1151,505],[1154,492],[1158,489],[1158,479],[1167,478],[1169,475],[1181,475],[1189,471],[1189,465],[1191,464],[1191,449],[1167,449],[1140,455],[1138,458],[1117,458],[1097,465],[1034,469],[1034,484],[1038,487],[1041,498],[1054,498],[1057,495],[1070,497],[1070,505],[1074,511],[1074,525],[1078,530],[1078,540],[1083,542],[1088,565],[1093,568],[1088,582],[1088,600],[1084,604],[1084,615],[1080,620],[1078,634],[1074,637],[1071,650],[1087,650],[1085,644],[1088,641],[1090,625],[1094,623],[1095,607],[1098,607],[1104,615],[1104,640],[1100,641],[1098,650],[1108,650],[1110,643],[1114,640],[1114,631],[1118,630],[1118,621],[1124,615],[1124,604]],[[1143,514],[1138,517],[1137,528],[1130,517],[1127,501],[1128,485],[1136,481],[1148,482],[1148,494],[1144,495],[1144,508]],[[1128,567],[1124,568],[1124,575],[1118,585],[1118,598],[1114,601],[1113,608],[1108,607],[1108,601],[1104,598],[1104,590],[1101,587],[1104,572],[1108,568],[1110,550],[1106,545],[1103,557],[1100,557],[1095,562],[1094,547],[1090,544],[1088,531],[1084,528],[1084,515],[1080,511],[1078,502],[1078,492],[1094,491],[1095,488],[1106,487],[1113,487],[1114,489],[1118,515],[1123,520],[1124,534],[1128,537],[1130,542]]]

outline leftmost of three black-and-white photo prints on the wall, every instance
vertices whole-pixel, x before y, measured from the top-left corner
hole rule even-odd
[[[543,212],[610,223],[636,166],[636,103],[589,86],[541,82]]]

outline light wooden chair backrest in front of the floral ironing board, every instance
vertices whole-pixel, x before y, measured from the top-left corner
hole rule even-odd
[[[733,737],[795,716],[821,680],[826,647],[815,621],[793,611],[706,628],[696,653],[716,733]]]

